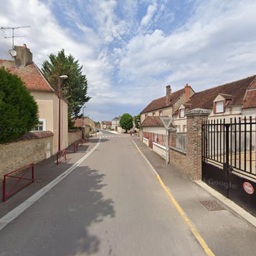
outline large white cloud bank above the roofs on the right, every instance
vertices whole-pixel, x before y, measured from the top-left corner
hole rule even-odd
[[[155,30],[127,44],[120,77],[136,86],[144,84],[147,95],[152,92],[145,104],[163,95],[168,83],[180,89],[188,82],[199,91],[256,73],[256,2],[205,1],[197,8],[172,34]]]

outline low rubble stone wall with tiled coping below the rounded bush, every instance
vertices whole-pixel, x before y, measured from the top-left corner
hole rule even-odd
[[[35,132],[11,143],[0,144],[0,179],[12,170],[38,163],[52,155],[53,133]]]

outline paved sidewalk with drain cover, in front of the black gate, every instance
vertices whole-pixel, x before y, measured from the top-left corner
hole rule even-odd
[[[256,250],[256,228],[253,225],[190,180],[175,166],[170,164],[166,166],[165,160],[142,143],[139,138],[132,139],[216,255],[253,254]],[[149,168],[148,171],[152,170]],[[208,210],[200,201],[215,201],[217,204],[208,202],[210,206]],[[215,207],[218,205],[219,210]]]

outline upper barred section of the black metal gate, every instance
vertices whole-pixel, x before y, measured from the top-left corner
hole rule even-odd
[[[202,124],[203,160],[256,176],[256,122],[252,117],[208,120]],[[256,177],[255,177],[256,178]]]

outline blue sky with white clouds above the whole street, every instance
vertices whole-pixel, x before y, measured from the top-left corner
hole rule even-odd
[[[17,30],[33,60],[62,48],[88,79],[84,115],[139,114],[170,84],[202,91],[256,74],[255,0],[0,0],[0,27]],[[0,30],[0,58],[11,31]]]

